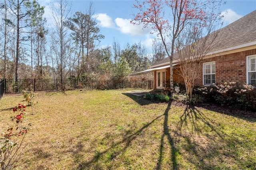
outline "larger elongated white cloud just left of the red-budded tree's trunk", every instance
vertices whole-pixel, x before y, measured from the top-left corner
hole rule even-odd
[[[132,36],[141,36],[150,32],[149,28],[143,28],[143,25],[134,25],[130,23],[130,19],[116,18],[115,22],[118,30],[123,34],[130,34]]]

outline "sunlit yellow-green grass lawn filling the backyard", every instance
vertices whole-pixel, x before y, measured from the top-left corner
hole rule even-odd
[[[36,93],[35,101],[17,169],[256,169],[256,113],[152,103],[125,91]],[[22,94],[0,100],[1,132],[18,103],[26,104]]]

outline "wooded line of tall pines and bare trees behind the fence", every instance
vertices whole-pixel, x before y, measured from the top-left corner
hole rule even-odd
[[[142,43],[122,48],[114,38],[112,46],[100,47],[104,35],[92,3],[84,12],[71,14],[69,2],[60,0],[52,4],[51,23],[43,17],[44,6],[37,0],[0,3],[0,78],[125,80],[165,57],[157,41],[150,55]]]

